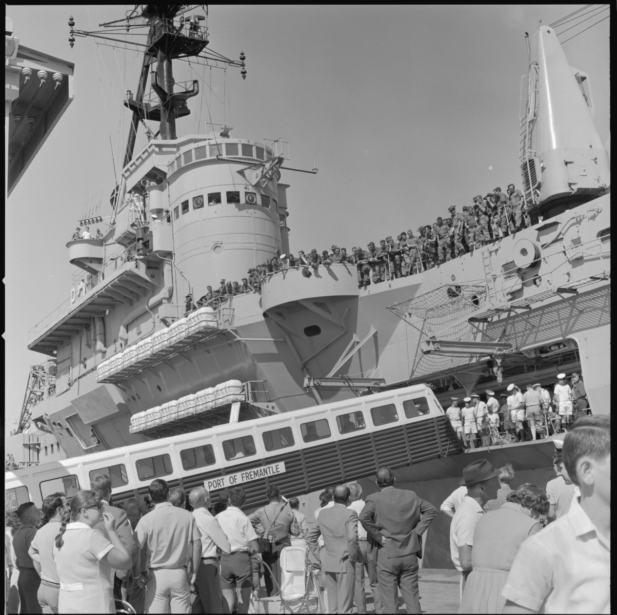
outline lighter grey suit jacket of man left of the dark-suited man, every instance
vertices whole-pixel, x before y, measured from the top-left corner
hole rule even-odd
[[[321,552],[317,544],[320,534],[325,545]],[[355,564],[360,552],[357,513],[343,504],[322,508],[315,527],[309,530],[307,543],[324,572],[346,572],[346,561]]]

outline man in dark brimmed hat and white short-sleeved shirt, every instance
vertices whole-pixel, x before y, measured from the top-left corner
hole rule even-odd
[[[465,581],[471,572],[471,550],[476,523],[484,515],[484,506],[494,500],[499,491],[499,470],[486,459],[478,459],[463,470],[461,485],[467,487],[467,495],[454,513],[450,524],[450,557],[461,573],[460,596]]]

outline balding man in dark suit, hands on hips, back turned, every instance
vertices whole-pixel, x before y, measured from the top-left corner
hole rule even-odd
[[[379,468],[376,483],[381,492],[366,498],[360,523],[369,540],[367,556],[377,561],[379,595],[385,612],[396,613],[400,587],[407,613],[421,613],[418,593],[420,537],[437,515],[437,508],[413,491],[395,489],[394,473],[390,468]]]

